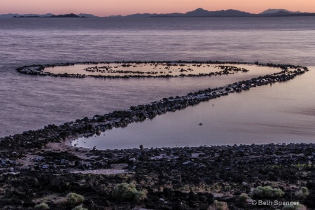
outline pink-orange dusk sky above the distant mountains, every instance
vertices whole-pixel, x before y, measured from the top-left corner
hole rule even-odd
[[[6,13],[90,13],[98,16],[134,13],[186,13],[237,9],[261,13],[268,8],[315,13],[314,0],[0,0],[0,14]]]

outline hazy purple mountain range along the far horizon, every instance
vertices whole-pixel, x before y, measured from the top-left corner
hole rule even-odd
[[[217,10],[209,11],[202,8],[187,13],[167,13],[167,14],[132,14],[132,15],[112,15],[103,18],[192,18],[192,17],[295,17],[295,16],[315,16],[315,13],[301,13],[292,12],[286,9],[268,9],[259,14],[246,13],[240,10]],[[91,14],[66,14],[66,15],[53,15],[51,13],[45,15],[36,14],[5,14],[0,15],[0,18],[101,18]]]

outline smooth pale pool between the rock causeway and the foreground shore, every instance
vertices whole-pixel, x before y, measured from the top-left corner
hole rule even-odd
[[[113,149],[314,142],[315,66],[309,69],[288,82],[254,87],[71,144]]]

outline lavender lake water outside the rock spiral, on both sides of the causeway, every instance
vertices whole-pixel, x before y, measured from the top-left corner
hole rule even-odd
[[[314,22],[314,17],[1,18],[0,137],[221,85],[209,83],[207,78],[27,76],[15,71],[19,66],[221,60],[290,63],[314,69]],[[309,142],[315,139],[313,80],[314,73],[309,71],[288,83],[256,87],[167,113],[105,132],[101,144],[104,148],[125,148],[138,147],[139,143],[149,147]],[[140,140],[141,136],[145,138]]]

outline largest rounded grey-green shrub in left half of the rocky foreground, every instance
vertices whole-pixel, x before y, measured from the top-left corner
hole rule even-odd
[[[144,200],[146,193],[138,191],[134,184],[120,183],[113,188],[111,195],[117,199],[123,200]]]

